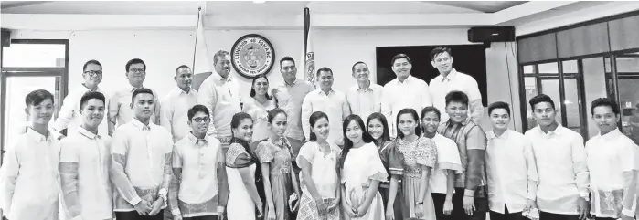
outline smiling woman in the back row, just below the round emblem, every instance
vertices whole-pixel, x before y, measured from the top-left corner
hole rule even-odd
[[[244,103],[242,111],[249,113],[253,118],[253,138],[252,141],[261,141],[271,136],[269,129],[269,110],[275,109],[277,103],[269,95],[269,79],[266,75],[260,74],[253,78],[250,88],[250,99]]]

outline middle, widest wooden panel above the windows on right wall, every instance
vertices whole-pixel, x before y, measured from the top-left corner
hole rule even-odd
[[[559,31],[557,44],[559,58],[608,52],[608,25],[604,22]]]

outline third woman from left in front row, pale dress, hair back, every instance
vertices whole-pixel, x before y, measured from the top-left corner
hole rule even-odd
[[[295,162],[300,165],[302,198],[297,220],[340,220],[339,178],[336,172],[339,147],[328,142],[328,116],[315,111],[309,117],[311,141],[304,143]]]

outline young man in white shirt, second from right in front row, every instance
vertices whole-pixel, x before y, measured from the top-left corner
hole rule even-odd
[[[526,131],[532,142],[539,184],[540,220],[585,220],[589,177],[583,138],[555,120],[555,102],[539,94],[529,101],[538,126]]]

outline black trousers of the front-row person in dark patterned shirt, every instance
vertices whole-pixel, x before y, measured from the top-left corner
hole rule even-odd
[[[488,212],[488,199],[485,195],[485,186],[475,191],[474,194],[474,212],[473,215],[466,215],[463,209],[463,188],[455,188],[453,194],[453,218],[454,220],[485,220]],[[481,195],[481,196],[478,196]],[[543,220],[543,219],[541,219]]]

